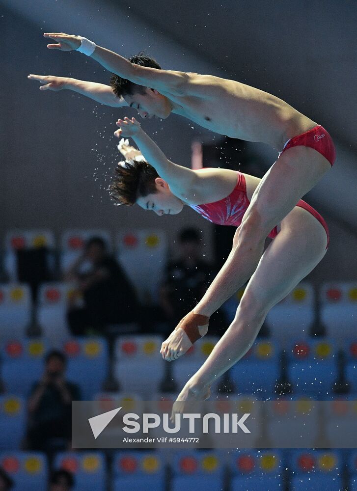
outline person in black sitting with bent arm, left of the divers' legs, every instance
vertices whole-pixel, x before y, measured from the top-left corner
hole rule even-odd
[[[106,250],[100,237],[92,237],[82,256],[65,274],[66,281],[76,281],[82,305],[73,302],[68,310],[68,324],[73,335],[88,329],[105,330],[108,324],[134,322],[137,297],[134,287],[119,264]]]

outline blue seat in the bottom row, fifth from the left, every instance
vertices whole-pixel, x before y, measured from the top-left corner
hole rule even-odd
[[[232,451],[229,467],[230,491],[281,491],[283,489],[283,457],[279,451]]]

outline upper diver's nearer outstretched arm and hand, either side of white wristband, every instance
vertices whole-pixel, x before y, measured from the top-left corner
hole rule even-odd
[[[74,34],[45,32],[44,37],[55,41],[55,43],[47,45],[50,50],[74,51],[81,46],[81,38]],[[101,46],[96,46],[90,56],[110,72],[137,85],[170,93],[182,93],[185,82],[189,80],[189,75],[185,72],[136,65],[123,56]]]

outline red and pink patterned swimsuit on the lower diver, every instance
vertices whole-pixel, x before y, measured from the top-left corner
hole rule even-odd
[[[247,189],[246,189],[246,179],[244,174],[241,172],[237,172],[238,179],[237,185],[234,190],[225,198],[220,199],[219,201],[215,201],[214,203],[206,203],[204,205],[190,205],[190,207],[202,215],[203,218],[210,220],[212,223],[217,223],[217,225],[233,225],[235,227],[239,227],[242,223],[243,215],[246,213],[247,208],[249,206],[250,201],[247,197]],[[302,199],[298,202],[296,206],[300,206],[304,208],[308,212],[311,213],[326,230],[327,234],[327,246],[329,246],[330,242],[330,234],[326,221],[322,216],[312,208],[309,204],[307,204]],[[274,239],[278,234],[277,226],[270,232],[268,237]]]

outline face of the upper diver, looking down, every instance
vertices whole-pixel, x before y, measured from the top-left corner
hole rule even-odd
[[[142,87],[144,92],[135,92],[124,96],[125,102],[131,108],[137,109],[138,114],[142,118],[157,118],[165,119],[171,112],[169,100],[164,95],[160,94],[156,89]]]

